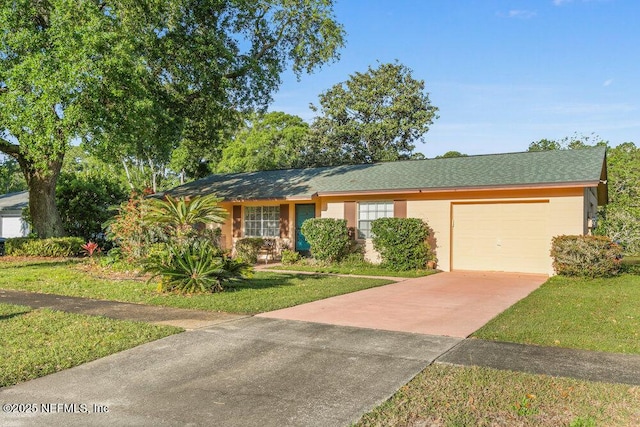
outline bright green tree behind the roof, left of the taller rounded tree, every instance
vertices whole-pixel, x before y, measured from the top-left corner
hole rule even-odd
[[[306,165],[309,125],[282,112],[254,114],[222,151],[216,172],[254,172]]]

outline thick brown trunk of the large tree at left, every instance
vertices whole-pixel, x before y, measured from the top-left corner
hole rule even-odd
[[[49,170],[37,170],[33,165],[19,159],[29,185],[29,213],[33,231],[42,239],[65,235],[62,218],[56,206],[56,183],[62,168],[62,158],[49,163]]]

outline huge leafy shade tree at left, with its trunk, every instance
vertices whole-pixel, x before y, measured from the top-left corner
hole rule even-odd
[[[55,186],[82,140],[105,157],[168,161],[264,108],[291,64],[337,57],[331,0],[15,0],[0,4],[0,151],[29,186],[40,237],[64,233]],[[200,161],[201,159],[186,159]]]

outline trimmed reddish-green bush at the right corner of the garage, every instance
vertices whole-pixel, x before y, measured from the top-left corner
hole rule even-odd
[[[551,256],[557,274],[606,277],[620,272],[622,248],[604,236],[556,236]]]

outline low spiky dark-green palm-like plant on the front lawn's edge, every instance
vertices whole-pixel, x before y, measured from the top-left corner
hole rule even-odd
[[[249,264],[227,257],[207,241],[168,244],[164,256],[143,261],[149,281],[160,276],[164,292],[222,292],[224,284],[240,280],[250,271]]]

